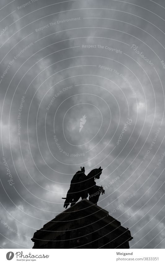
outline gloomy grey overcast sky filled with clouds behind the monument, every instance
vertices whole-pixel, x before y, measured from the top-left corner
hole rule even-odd
[[[1,0],[1,248],[33,247],[80,166],[101,166],[99,186],[118,177],[98,205],[131,248],[165,247],[164,11],[163,0]]]

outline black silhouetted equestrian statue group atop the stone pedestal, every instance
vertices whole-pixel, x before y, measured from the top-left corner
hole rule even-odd
[[[99,179],[102,173],[101,167],[99,169],[92,169],[91,172],[86,176],[85,175],[85,168],[81,168],[76,174],[73,176],[69,191],[66,195],[64,208],[73,206],[80,197],[82,199],[87,199],[89,194],[89,201],[93,202],[97,205],[99,200],[100,193],[105,193],[105,190],[102,186],[97,186],[95,179]]]

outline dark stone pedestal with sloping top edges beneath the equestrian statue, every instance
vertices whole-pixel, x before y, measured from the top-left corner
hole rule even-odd
[[[33,248],[129,248],[128,229],[84,199],[37,230]]]

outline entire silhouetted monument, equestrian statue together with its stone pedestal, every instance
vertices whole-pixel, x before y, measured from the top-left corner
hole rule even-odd
[[[130,231],[97,206],[100,193],[105,192],[95,183],[101,173],[100,167],[86,176],[83,167],[74,175],[63,198],[64,207],[71,206],[34,233],[33,248],[129,248]]]

